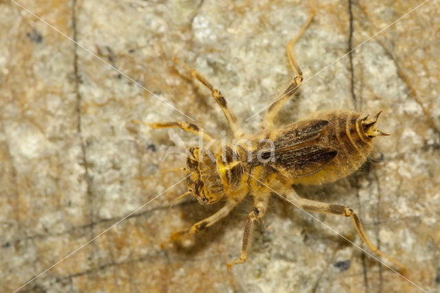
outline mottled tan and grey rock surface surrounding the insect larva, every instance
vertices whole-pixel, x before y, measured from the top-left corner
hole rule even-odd
[[[50,28],[0,1],[1,291],[32,279],[21,292],[440,290],[439,1],[387,27],[420,3],[20,2]],[[163,170],[184,158],[162,160],[174,145],[168,131],[131,120],[191,118],[230,135],[209,91],[173,62],[178,56],[257,131],[262,113],[245,119],[293,77],[285,45],[313,12],[294,46],[305,83],[278,122],[321,109],[384,110],[380,129],[392,135],[376,140],[373,160],[355,175],[297,191],[357,211],[372,241],[407,265],[407,279],[320,224],[370,252],[349,219],[314,214],[317,221],[275,197],[248,262],[230,274],[248,200],[221,223],[161,247],[223,203],[182,199],[169,210],[186,186],[177,184],[181,172]]]

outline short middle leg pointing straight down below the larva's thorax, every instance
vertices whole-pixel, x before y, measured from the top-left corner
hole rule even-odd
[[[248,257],[248,243],[249,237],[252,233],[252,226],[255,224],[257,219],[261,219],[265,215],[267,210],[267,202],[269,202],[269,196],[269,193],[260,193],[254,197],[255,207],[249,213],[248,220],[246,221],[243,244],[241,246],[241,257],[228,263],[228,271],[230,271],[232,265],[244,263],[246,261],[246,258]]]

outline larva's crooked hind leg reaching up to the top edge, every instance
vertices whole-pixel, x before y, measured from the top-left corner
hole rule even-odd
[[[261,124],[264,129],[270,129],[273,127],[274,118],[278,111],[280,111],[285,102],[287,102],[287,100],[289,100],[289,98],[295,94],[296,89],[298,89],[301,83],[303,83],[303,72],[301,71],[298,63],[296,63],[295,60],[294,44],[296,43],[296,41],[298,41],[305,30],[307,30],[311,21],[314,19],[314,15],[314,13],[311,14],[309,19],[307,19],[305,25],[303,25],[303,28],[301,28],[300,32],[294,37],[294,39],[292,39],[292,41],[287,44],[287,60],[289,61],[290,67],[292,67],[295,78],[290,82],[287,89],[283,91],[283,94],[277,96],[272,105],[270,105],[269,109],[267,109],[267,113],[263,118],[263,123]]]

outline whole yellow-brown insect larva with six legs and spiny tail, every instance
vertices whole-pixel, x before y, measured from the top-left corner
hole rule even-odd
[[[312,17],[300,34],[307,28],[311,19]],[[234,139],[238,142],[234,145],[222,145],[214,135],[188,122],[149,124],[155,129],[179,127],[210,142],[208,147],[187,149],[185,170],[188,174],[188,192],[184,195],[194,195],[203,205],[217,202],[222,197],[227,198],[225,206],[217,213],[188,229],[174,233],[171,239],[212,226],[250,194],[254,198],[254,208],[245,224],[241,257],[228,263],[228,268],[235,263],[243,263],[247,257],[252,226],[257,219],[265,215],[270,194],[277,193],[304,210],[350,217],[366,246],[404,271],[404,265],[382,253],[369,240],[359,217],[351,208],[305,199],[292,188],[292,184],[323,184],[346,177],[366,161],[372,149],[373,138],[387,135],[375,128],[381,112],[369,118],[349,110],[322,111],[281,129],[274,128],[274,117],[303,81],[302,72],[292,50],[300,34],[287,45],[287,57],[296,77],[269,107],[263,118],[263,131],[256,135],[245,134],[218,89],[195,70],[176,59],[177,63],[188,69],[192,76],[210,89],[230,124]]]

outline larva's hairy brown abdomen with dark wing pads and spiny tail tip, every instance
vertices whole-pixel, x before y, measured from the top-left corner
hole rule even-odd
[[[294,184],[334,182],[358,170],[371,152],[371,141],[386,135],[375,129],[377,117],[363,118],[354,111],[327,111],[314,114],[271,133],[275,141],[274,168]]]

